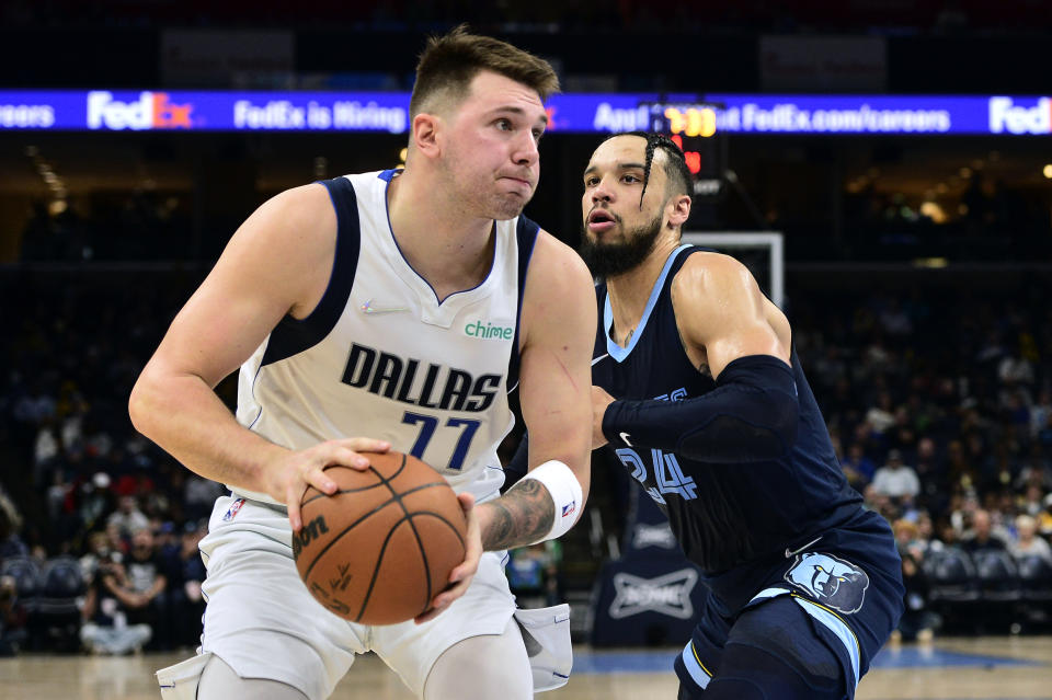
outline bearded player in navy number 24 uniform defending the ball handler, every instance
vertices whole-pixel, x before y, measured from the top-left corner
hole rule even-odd
[[[734,259],[681,244],[690,182],[675,144],[644,133],[584,171],[593,448],[667,514],[710,588],[679,698],[851,698],[902,611],[891,529],[841,473],[786,317]]]

